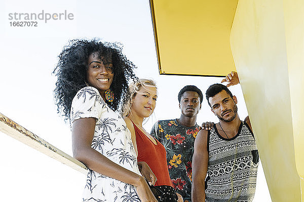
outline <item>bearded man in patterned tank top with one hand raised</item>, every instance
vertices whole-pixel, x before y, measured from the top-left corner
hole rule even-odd
[[[237,84],[238,75],[232,72],[223,81]],[[240,120],[237,98],[222,84],[211,85],[206,99],[219,122],[200,130],[195,140],[192,201],[252,201],[258,151],[249,118]]]

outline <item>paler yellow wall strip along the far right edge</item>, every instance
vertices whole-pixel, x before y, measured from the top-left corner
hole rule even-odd
[[[304,201],[304,2],[283,1],[296,168]]]

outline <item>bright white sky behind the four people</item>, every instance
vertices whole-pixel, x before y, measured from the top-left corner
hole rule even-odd
[[[9,13],[73,13],[74,20],[38,21],[37,27],[11,27]],[[1,1],[0,113],[71,155],[69,126],[56,112],[51,75],[57,56],[69,39],[98,37],[124,44],[140,78],[159,87],[157,108],[145,124],[178,118],[177,93],[196,85],[203,94],[221,78],[159,75],[147,0],[132,1]],[[187,50],[185,50],[187,51]],[[176,59],[185,64],[185,58]],[[228,73],[228,72],[227,72]],[[247,116],[241,87],[230,87],[238,98],[241,119]],[[197,122],[217,122],[204,98]],[[0,201],[82,201],[86,176],[0,132]],[[271,201],[260,164],[254,201]]]

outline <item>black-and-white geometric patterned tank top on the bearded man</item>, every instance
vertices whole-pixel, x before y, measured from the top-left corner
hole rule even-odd
[[[258,168],[258,151],[253,133],[241,122],[233,138],[219,135],[216,127],[208,133],[208,177],[206,201],[252,201]]]

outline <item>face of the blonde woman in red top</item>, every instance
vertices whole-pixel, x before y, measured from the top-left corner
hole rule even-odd
[[[155,86],[141,87],[132,98],[131,113],[141,118],[149,117],[156,107],[157,89]]]

